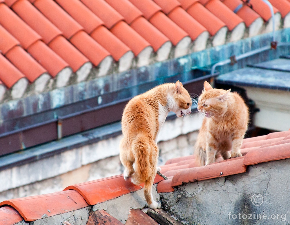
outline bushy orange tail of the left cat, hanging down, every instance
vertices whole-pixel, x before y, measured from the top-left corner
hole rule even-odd
[[[132,174],[132,183],[138,185],[151,177],[152,164],[150,158],[152,157],[154,146],[150,138],[144,134],[136,136],[132,142],[132,150],[135,153],[134,173]]]

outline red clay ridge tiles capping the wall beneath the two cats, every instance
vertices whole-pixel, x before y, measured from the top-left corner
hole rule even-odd
[[[161,166],[162,174],[158,173],[155,177],[157,192],[173,192],[174,187],[184,183],[244,173],[249,165],[290,158],[290,130],[244,139],[241,153],[241,157],[228,160],[218,158],[215,163],[204,167],[195,165],[194,155],[168,160]],[[71,185],[51,194],[6,200],[0,203],[0,218],[5,218],[0,225],[12,225],[23,219],[30,222],[74,211],[142,187],[142,184],[125,181],[121,174]]]

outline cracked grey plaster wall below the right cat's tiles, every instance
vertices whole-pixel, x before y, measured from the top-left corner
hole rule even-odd
[[[162,207],[184,224],[289,224],[289,170],[290,159],[284,159],[248,166],[242,174],[184,184],[161,194]],[[255,194],[263,197],[263,202],[259,196],[254,202],[260,206],[251,201]]]

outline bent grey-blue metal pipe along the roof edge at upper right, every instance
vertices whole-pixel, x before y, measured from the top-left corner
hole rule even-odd
[[[234,59],[235,61],[238,61],[240,59],[243,59],[243,58],[247,58],[249,56],[253,56],[255,54],[258,54],[260,52],[264,52],[264,51],[267,51],[267,50],[270,50],[270,49],[276,49],[277,46],[281,46],[281,45],[290,45],[289,43],[276,43],[276,35],[275,35],[275,18],[274,18],[274,10],[273,10],[273,6],[271,5],[271,3],[268,1],[268,0],[262,0],[264,1],[270,8],[270,11],[271,11],[271,17],[272,17],[272,20],[273,20],[273,42],[271,43],[270,46],[265,46],[265,47],[262,47],[262,48],[259,48],[259,49],[256,49],[256,50],[253,50],[253,51],[250,51],[250,52],[246,52],[244,54],[240,54],[238,56],[235,56]],[[273,47],[273,45],[275,45],[275,47]],[[232,59],[226,59],[224,61],[221,61],[221,62],[218,62],[218,63],[215,63],[212,67],[211,67],[211,74],[214,74],[215,73],[215,68],[217,66],[223,66],[223,65],[227,65],[229,63],[232,63]]]

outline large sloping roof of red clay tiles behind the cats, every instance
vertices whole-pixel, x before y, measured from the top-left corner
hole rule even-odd
[[[270,2],[275,15],[280,14],[282,19],[290,17],[288,0]],[[251,5],[242,0],[170,0],[166,3],[160,0],[2,0],[0,30],[5,40],[0,41],[0,50],[7,61],[1,60],[6,69],[0,71],[0,85],[4,92],[17,87],[18,93],[12,95],[15,99],[22,97],[26,87],[40,77],[46,78],[41,79],[42,88],[38,92],[51,88],[48,80],[56,81],[59,74],[67,76],[62,78],[66,82],[56,86],[62,87],[67,85],[72,72],[84,71],[82,67],[92,69],[102,67],[102,62],[104,66],[108,62],[118,63],[125,55],[132,60],[143,50],[148,52],[148,48],[158,54],[165,43],[171,49],[182,42],[181,46],[187,46],[188,50],[180,54],[186,54],[191,48],[189,41],[194,42],[199,36],[208,39],[220,33],[225,39],[226,32],[233,31],[238,24],[249,27],[257,19],[262,26],[262,19],[267,22],[271,17],[267,7],[262,0],[253,0]],[[239,39],[243,36],[243,26],[238,30]],[[213,41],[213,46],[224,42]],[[168,57],[169,53],[156,60]],[[126,68],[120,67],[121,72],[136,64],[126,65]],[[71,72],[61,73],[68,68]],[[88,74],[73,82],[87,79]]]

